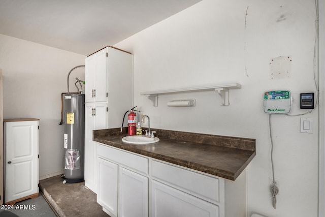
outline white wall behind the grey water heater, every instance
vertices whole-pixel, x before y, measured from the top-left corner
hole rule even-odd
[[[62,173],[63,125],[61,92],[67,92],[67,75],[84,65],[84,55],[0,35],[0,68],[3,70],[4,118],[40,119],[40,178]],[[84,68],[70,76],[84,80]]]

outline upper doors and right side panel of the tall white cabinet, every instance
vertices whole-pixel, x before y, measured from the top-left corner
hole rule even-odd
[[[85,59],[85,103],[108,103],[108,128],[133,107],[133,55],[106,47]]]

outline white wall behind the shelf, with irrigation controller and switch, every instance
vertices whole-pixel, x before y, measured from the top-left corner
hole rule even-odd
[[[246,13],[247,12],[247,13]],[[314,0],[203,0],[114,45],[134,54],[134,102],[151,127],[256,139],[248,166],[248,215],[317,216],[318,115],[313,134],[300,133],[300,116],[272,116],[276,209],[269,192],[270,139],[262,101],[266,90],[289,89],[299,108],[301,92],[316,92],[313,78]],[[270,59],[291,56],[290,76],[270,78]],[[216,92],[159,96],[158,107],[142,91],[238,82],[230,106]],[[175,99],[197,100],[171,108]]]

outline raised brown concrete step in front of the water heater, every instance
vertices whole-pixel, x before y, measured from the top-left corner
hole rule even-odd
[[[40,180],[40,191],[61,217],[109,217],[84,182],[62,183],[61,176]]]

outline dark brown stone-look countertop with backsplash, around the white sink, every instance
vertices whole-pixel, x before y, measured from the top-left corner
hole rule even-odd
[[[255,139],[151,129],[159,142],[134,145],[122,142],[127,134],[119,130],[95,130],[93,141],[230,180],[256,155]]]

